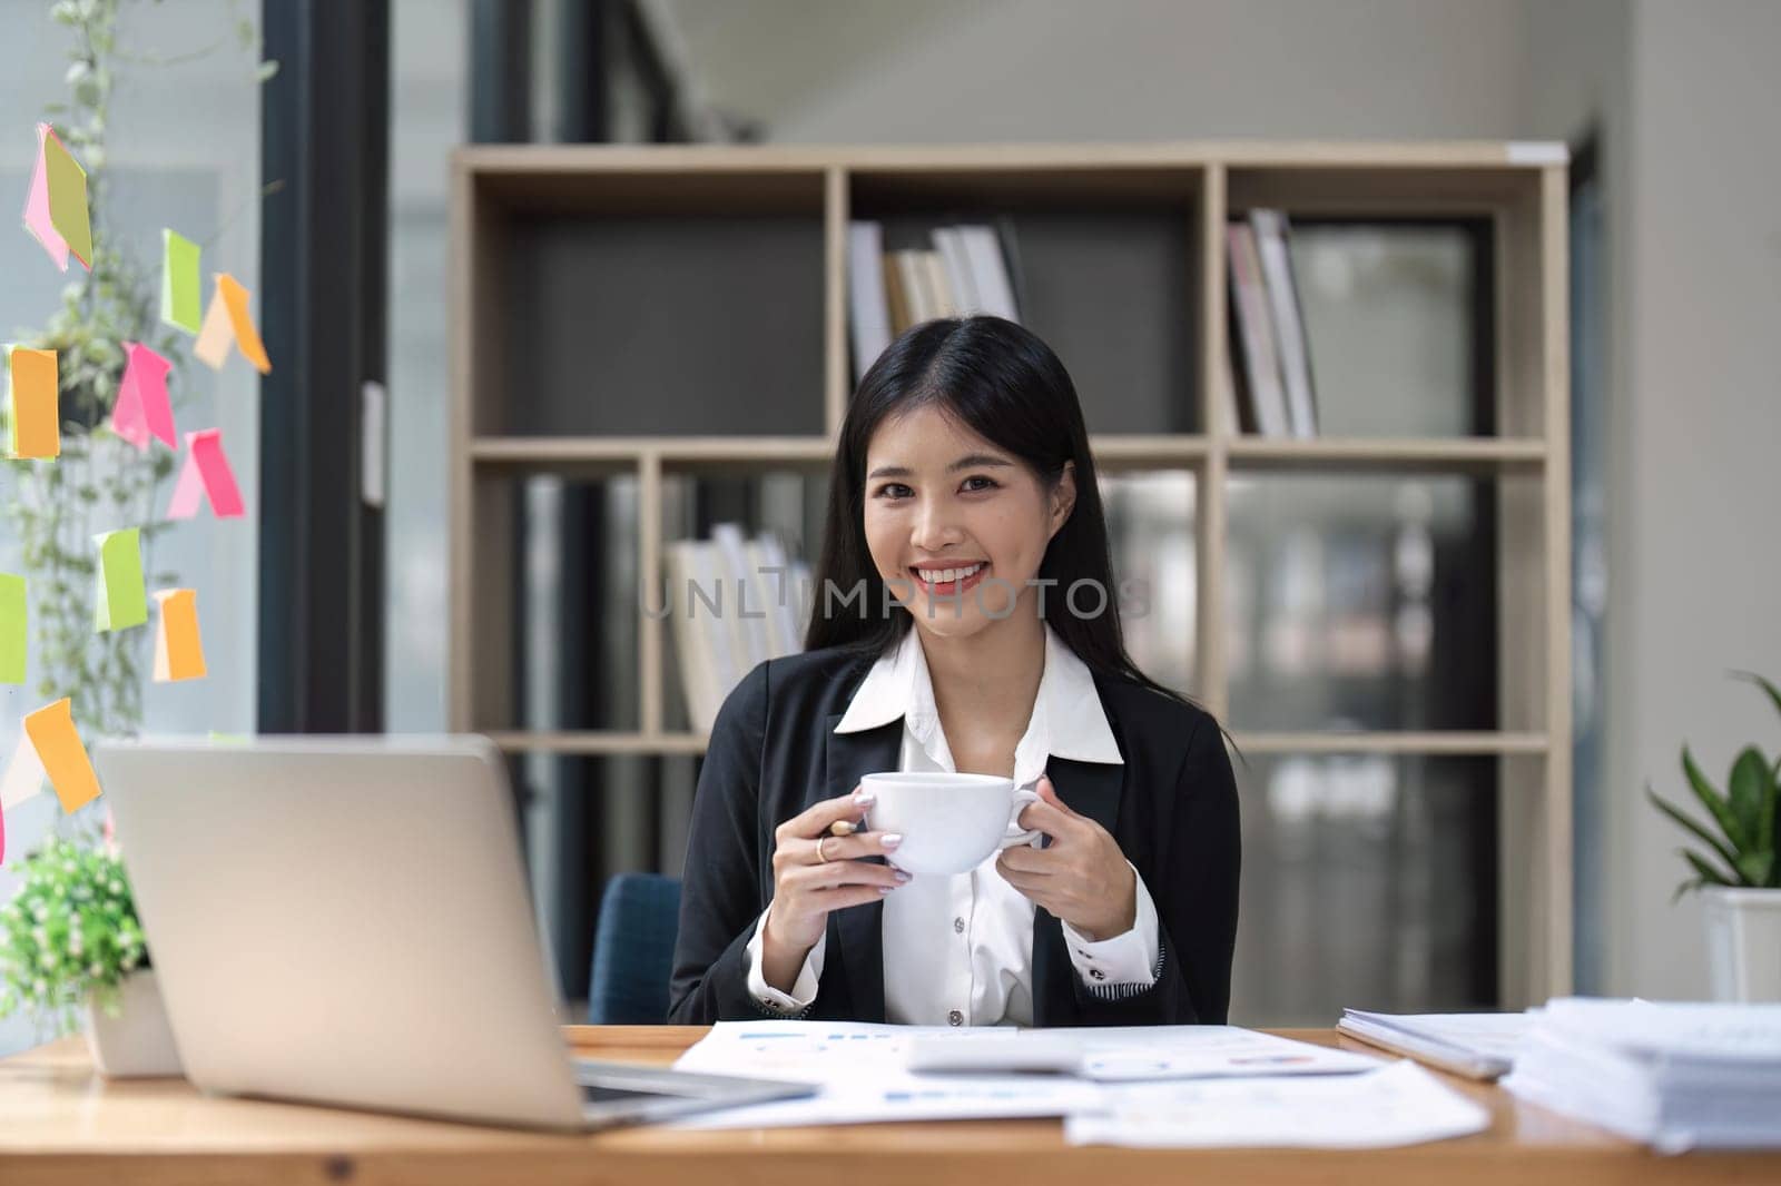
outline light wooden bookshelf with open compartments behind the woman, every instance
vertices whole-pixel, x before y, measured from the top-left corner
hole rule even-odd
[[[1279,440],[1227,422],[1227,217],[1455,217],[1491,228],[1489,436]],[[1247,474],[1491,483],[1489,730],[1256,732],[1257,755],[1496,762],[1498,985],[1571,987],[1565,153],[1512,142],[1133,146],[470,146],[452,160],[451,725],[508,753],[698,755],[668,725],[664,632],[639,621],[636,728],[516,727],[516,483],[636,484],[636,570],[663,572],[680,474],[821,474],[851,390],[848,221],[1006,212],[1024,321],[1065,360],[1108,474],[1195,486],[1193,680],[1229,707],[1227,488]],[[1045,283],[1099,269],[1097,283]],[[1072,271],[1076,269],[1076,271]],[[696,278],[696,283],[689,280]],[[1099,285],[1099,287],[1097,287]],[[1142,299],[1108,301],[1108,287]],[[1113,321],[1110,321],[1113,319]],[[1117,321],[1117,324],[1115,324]],[[1097,338],[1120,333],[1120,349]],[[687,349],[687,335],[698,349]],[[737,383],[737,376],[743,378]],[[1120,390],[1117,406],[1090,392]],[[1149,429],[1149,431],[1147,431]],[[630,557],[625,557],[627,563]],[[810,557],[814,561],[814,557]]]

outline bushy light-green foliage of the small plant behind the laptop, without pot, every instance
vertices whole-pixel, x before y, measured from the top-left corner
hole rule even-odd
[[[109,1017],[148,967],[130,878],[114,851],[50,837],[20,864],[23,887],[0,906],[0,1017],[28,1010],[69,1033],[91,999]]]

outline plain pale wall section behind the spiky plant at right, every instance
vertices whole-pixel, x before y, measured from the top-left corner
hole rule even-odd
[[[1781,5],[1637,0],[1630,53],[1626,374],[1615,435],[1610,972],[1617,992],[1706,990],[1699,903],[1671,906],[1687,739],[1722,782],[1781,721],[1733,668],[1781,678]]]

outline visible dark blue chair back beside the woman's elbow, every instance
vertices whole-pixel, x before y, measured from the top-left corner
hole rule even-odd
[[[606,883],[588,976],[590,1026],[661,1026],[680,930],[680,878],[620,873]]]

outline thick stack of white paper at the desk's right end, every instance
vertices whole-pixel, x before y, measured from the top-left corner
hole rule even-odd
[[[1503,1086],[1663,1152],[1781,1149],[1781,1004],[1558,999]]]

